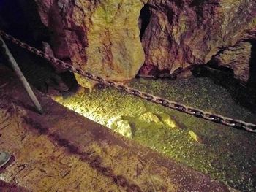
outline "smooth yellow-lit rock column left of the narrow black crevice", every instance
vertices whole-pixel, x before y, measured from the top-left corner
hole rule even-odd
[[[106,0],[95,7],[83,69],[111,80],[135,77],[145,60],[138,28],[142,7],[140,0]]]

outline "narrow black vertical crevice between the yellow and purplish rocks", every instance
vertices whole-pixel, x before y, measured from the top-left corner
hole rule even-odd
[[[140,39],[142,39],[143,34],[145,34],[146,28],[150,22],[151,12],[149,10],[149,5],[145,6],[140,11],[139,26],[140,26]]]

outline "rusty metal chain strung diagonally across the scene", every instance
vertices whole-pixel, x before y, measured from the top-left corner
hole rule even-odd
[[[214,114],[214,113],[211,113],[211,112],[205,112],[203,110],[199,110],[199,109],[194,108],[194,107],[188,107],[184,104],[180,104],[176,101],[170,101],[170,100],[167,100],[167,99],[163,99],[162,97],[154,96],[151,93],[146,93],[146,92],[140,91],[138,89],[131,88],[131,87],[129,87],[127,85],[124,85],[120,82],[105,80],[102,77],[97,77],[94,74],[91,74],[89,72],[84,72],[82,69],[79,69],[75,66],[72,66],[71,64],[68,64],[64,61],[61,61],[57,58],[54,58],[54,57],[44,53],[41,50],[37,50],[37,48],[31,47],[30,45],[28,45],[24,42],[21,42],[19,39],[16,39],[15,37],[12,37],[11,35],[6,34],[4,31],[0,30],[0,35],[2,37],[4,37],[4,39],[10,40],[12,43],[15,43],[16,45],[18,45],[20,47],[23,47],[26,50],[29,50],[31,53],[35,53],[36,55],[39,55],[40,57],[45,58],[47,61],[50,61],[50,63],[52,63],[56,67],[62,67],[64,69],[67,69],[69,72],[80,74],[83,77],[87,77],[90,80],[94,80],[96,82],[99,82],[100,84],[108,85],[108,86],[116,88],[120,91],[124,91],[126,93],[129,93],[133,96],[138,96],[141,99],[146,99],[146,100],[154,102],[156,104],[161,104],[164,107],[168,107],[172,110],[177,110],[177,111],[180,111],[180,112],[184,112],[184,113],[187,113],[189,115],[193,115],[197,118],[203,118],[205,120],[210,120],[212,122],[220,123],[220,124],[225,125],[225,126],[231,126],[231,127],[234,127],[234,128],[241,128],[241,129],[244,129],[246,131],[256,133],[256,125],[253,124],[253,123],[246,123],[243,120],[236,120],[236,119],[233,119],[233,118],[227,118],[225,116]]]

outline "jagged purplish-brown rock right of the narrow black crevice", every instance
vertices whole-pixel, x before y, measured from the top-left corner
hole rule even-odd
[[[157,66],[170,74],[179,67],[206,64],[220,51],[244,39],[256,39],[256,1],[149,0],[143,15],[149,15],[141,34],[146,53],[143,68]],[[248,59],[246,55],[243,64],[231,66],[235,70],[240,67],[237,65],[246,68],[243,74],[235,72],[239,79],[249,76]]]

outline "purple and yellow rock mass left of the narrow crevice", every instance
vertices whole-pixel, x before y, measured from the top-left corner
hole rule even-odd
[[[142,1],[39,0],[37,6],[42,23],[53,34],[56,57],[117,81],[132,79],[143,65],[138,28]]]

